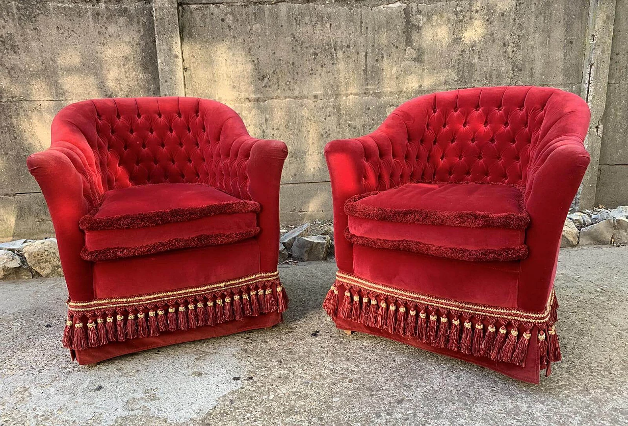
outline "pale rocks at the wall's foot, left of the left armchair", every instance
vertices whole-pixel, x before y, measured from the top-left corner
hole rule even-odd
[[[21,239],[0,244],[0,280],[61,277],[56,238]]]

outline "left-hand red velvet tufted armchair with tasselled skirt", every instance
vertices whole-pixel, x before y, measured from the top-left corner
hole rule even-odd
[[[70,298],[63,344],[81,364],[279,323],[283,142],[249,136],[198,98],[63,108],[28,158]]]

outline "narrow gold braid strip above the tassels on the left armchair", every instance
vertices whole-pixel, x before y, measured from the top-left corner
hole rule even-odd
[[[136,304],[158,304],[175,298],[192,298],[203,296],[216,290],[228,290],[241,286],[268,283],[279,278],[277,271],[272,273],[258,273],[246,277],[221,281],[219,283],[207,284],[205,286],[193,287],[175,291],[165,291],[163,293],[143,294],[142,296],[131,296],[128,298],[94,299],[87,302],[68,301],[68,309],[73,312],[93,311],[94,309],[113,309]]]

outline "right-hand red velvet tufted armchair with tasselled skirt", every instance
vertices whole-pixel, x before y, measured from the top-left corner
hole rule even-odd
[[[553,280],[589,163],[587,104],[553,88],[420,96],[325,147],[338,328],[538,383],[561,359]]]

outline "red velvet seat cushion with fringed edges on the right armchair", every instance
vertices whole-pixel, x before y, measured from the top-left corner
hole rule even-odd
[[[528,256],[521,190],[502,184],[413,183],[347,200],[354,244],[463,261]]]

